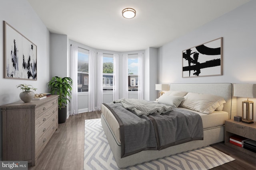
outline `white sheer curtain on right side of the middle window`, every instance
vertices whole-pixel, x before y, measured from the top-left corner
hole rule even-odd
[[[119,55],[114,54],[113,100],[119,99]]]

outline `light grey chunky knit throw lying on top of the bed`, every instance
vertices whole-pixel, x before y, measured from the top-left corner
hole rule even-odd
[[[124,108],[135,111],[137,115],[147,116],[152,113],[161,114],[172,111],[172,106],[146,100],[122,98],[120,100],[115,100],[114,103],[121,103]]]

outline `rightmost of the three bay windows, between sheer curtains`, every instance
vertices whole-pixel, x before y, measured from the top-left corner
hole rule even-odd
[[[138,54],[128,55],[128,90],[138,91]]]

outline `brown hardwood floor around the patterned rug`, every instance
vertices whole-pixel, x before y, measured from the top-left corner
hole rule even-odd
[[[100,111],[69,116],[66,123],[58,125],[42,153],[36,166],[29,170],[83,170],[84,166],[84,120],[100,118]],[[212,170],[256,170],[256,159],[230,148],[224,143],[212,147],[232,156],[236,160]]]

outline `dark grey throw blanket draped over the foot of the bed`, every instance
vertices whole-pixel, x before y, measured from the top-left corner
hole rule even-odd
[[[120,125],[121,158],[142,150],[161,150],[193,140],[203,140],[200,115],[173,108],[165,114],[137,115],[121,103],[104,104]]]

